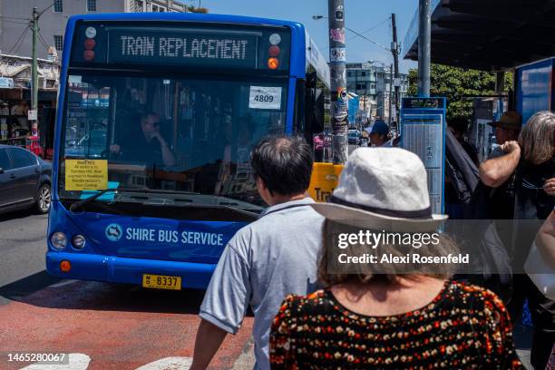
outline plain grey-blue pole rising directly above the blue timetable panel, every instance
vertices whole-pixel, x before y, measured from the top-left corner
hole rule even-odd
[[[418,5],[418,96],[430,96],[430,63],[432,60],[432,20],[430,0]]]

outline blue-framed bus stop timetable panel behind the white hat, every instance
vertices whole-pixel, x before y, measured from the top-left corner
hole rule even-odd
[[[424,162],[433,213],[444,213],[445,98],[403,98],[401,146]]]

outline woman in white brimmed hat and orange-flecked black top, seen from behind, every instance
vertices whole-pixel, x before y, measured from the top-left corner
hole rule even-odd
[[[284,300],[270,335],[272,369],[523,368],[510,318],[494,293],[451,280],[445,266],[380,262],[415,245],[369,247],[356,238],[365,231],[431,234],[446,219],[432,212],[424,163],[414,153],[355,150],[330,202],[312,207],[326,218],[318,261],[326,288]],[[341,237],[345,230],[348,238]],[[339,244],[346,239],[349,247]],[[372,250],[377,262],[336,262],[340,253]],[[417,253],[437,257],[454,250],[440,235],[433,248]]]

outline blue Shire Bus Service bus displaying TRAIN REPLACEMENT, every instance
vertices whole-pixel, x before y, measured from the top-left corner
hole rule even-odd
[[[312,139],[329,69],[302,24],[231,15],[69,19],[47,271],[204,288],[265,208],[249,166],[268,134]]]

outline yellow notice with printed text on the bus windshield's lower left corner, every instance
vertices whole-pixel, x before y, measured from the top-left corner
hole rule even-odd
[[[65,190],[108,188],[108,161],[65,160]]]

